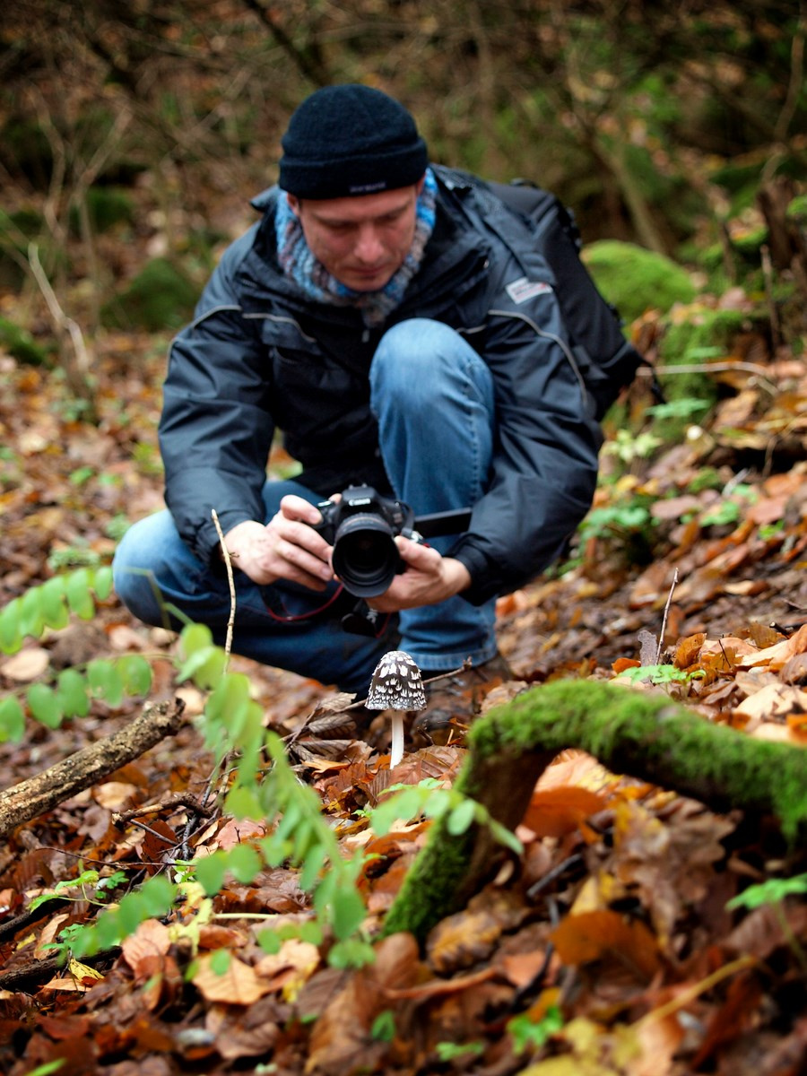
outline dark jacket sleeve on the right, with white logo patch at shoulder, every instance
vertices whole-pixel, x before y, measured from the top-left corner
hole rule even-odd
[[[496,392],[493,472],[450,554],[470,572],[463,597],[473,605],[524,585],[555,560],[597,481],[601,434],[554,292],[519,283],[514,297],[499,288],[489,312],[482,353]]]

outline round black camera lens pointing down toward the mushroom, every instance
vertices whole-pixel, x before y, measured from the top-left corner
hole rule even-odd
[[[379,515],[351,515],[334,538],[334,571],[344,589],[359,598],[383,594],[395,578],[400,557],[395,532]]]

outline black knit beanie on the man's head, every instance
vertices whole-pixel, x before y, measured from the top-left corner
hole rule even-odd
[[[416,183],[426,143],[407,110],[369,86],[326,86],[292,115],[280,186],[298,198],[342,198]]]

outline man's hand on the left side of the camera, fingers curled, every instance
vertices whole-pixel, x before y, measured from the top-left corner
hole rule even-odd
[[[312,591],[324,591],[334,572],[330,546],[312,529],[321,518],[318,508],[288,494],[266,526],[246,520],[227,532],[225,543],[233,565],[258,584],[287,579]]]

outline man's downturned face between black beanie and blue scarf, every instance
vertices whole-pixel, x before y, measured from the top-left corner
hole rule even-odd
[[[355,292],[377,292],[400,268],[414,236],[423,181],[397,190],[351,198],[288,195],[312,254]]]

